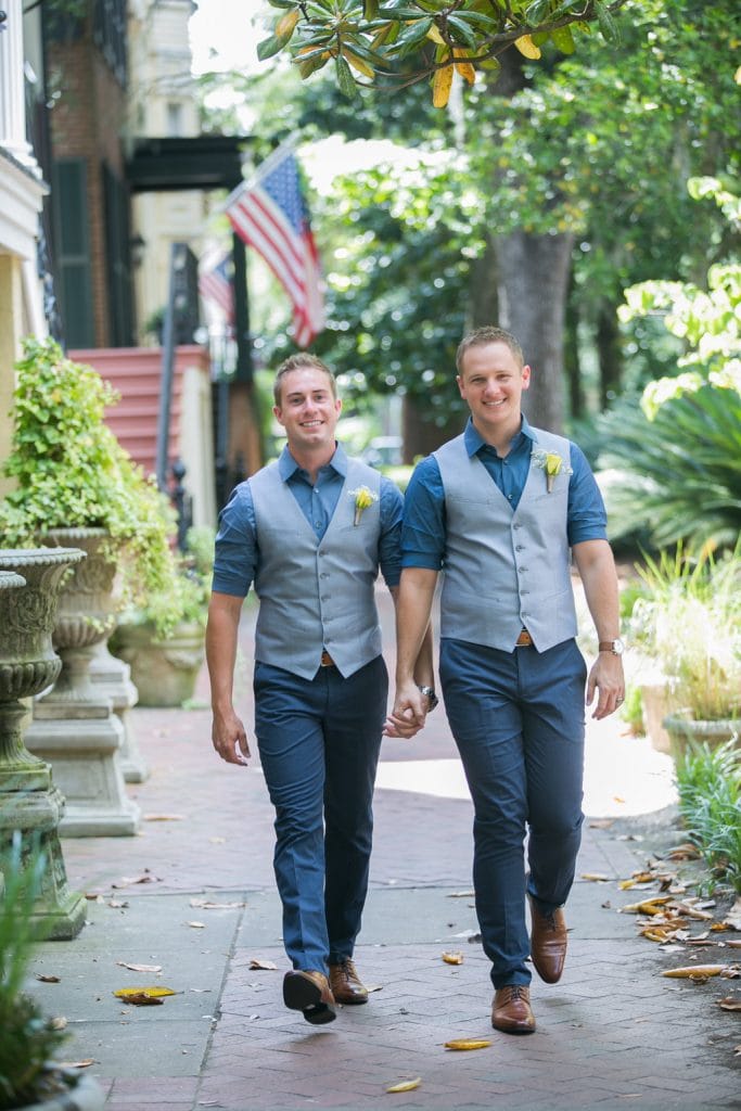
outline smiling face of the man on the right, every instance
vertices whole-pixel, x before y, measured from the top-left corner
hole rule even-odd
[[[515,434],[522,391],[530,386],[530,367],[521,367],[507,343],[469,348],[457,381],[484,439]]]

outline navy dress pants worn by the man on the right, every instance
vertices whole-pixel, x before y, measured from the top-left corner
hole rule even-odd
[[[573,883],[585,679],[573,640],[545,652],[441,641],[445,711],[473,799],[473,887],[494,988],[530,983],[525,883],[545,913],[563,905]]]

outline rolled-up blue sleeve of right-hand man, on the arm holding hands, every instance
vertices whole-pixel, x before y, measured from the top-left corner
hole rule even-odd
[[[414,468],[404,496],[401,565],[439,571],[445,554],[445,494],[438,461],[428,456]]]

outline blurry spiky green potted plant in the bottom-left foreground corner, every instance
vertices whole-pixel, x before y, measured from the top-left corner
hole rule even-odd
[[[92,1077],[54,1061],[69,1034],[23,991],[38,921],[43,853],[22,848],[20,834],[0,858],[0,1111],[98,1111],[104,1095]]]

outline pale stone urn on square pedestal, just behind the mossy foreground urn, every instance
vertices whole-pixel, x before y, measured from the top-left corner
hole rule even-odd
[[[110,538],[103,529],[80,528],[52,529],[44,540],[74,543],[88,558],[62,589],[53,631],[62,668],[53,688],[33,703],[26,744],[52,764],[67,799],[62,837],[131,835],[139,808],[126,794],[123,727],[111,699],[90,679],[94,645],[116,623],[117,563],[106,550]]]

